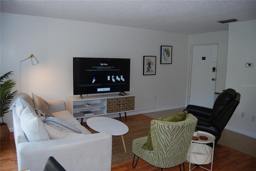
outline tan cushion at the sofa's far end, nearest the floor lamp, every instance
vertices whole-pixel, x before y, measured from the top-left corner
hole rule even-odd
[[[50,111],[51,105],[49,105],[46,100],[44,100],[42,97],[39,97],[38,95],[35,95],[34,93],[32,93],[32,97],[36,109],[40,109],[44,113],[46,113],[46,115],[54,117],[54,115],[52,115],[52,112]]]

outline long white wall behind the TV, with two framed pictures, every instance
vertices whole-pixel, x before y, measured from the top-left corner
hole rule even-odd
[[[160,64],[160,46],[172,46],[172,64]],[[185,107],[188,36],[72,20],[1,13],[1,75],[22,62],[22,91],[46,100],[72,95],[72,58],[130,58],[130,93],[137,113]],[[156,56],[156,75],[143,76],[143,56]],[[154,95],[156,100],[154,102]],[[12,128],[12,115],[4,121]]]

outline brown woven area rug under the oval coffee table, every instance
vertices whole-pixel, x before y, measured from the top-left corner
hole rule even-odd
[[[112,166],[120,165],[133,160],[132,141],[136,138],[148,136],[150,125],[143,121],[130,121],[125,123],[129,131],[124,135],[126,153],[121,136],[112,136]]]

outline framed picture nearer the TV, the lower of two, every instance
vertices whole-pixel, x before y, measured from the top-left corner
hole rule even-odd
[[[143,75],[156,75],[156,56],[143,56]]]

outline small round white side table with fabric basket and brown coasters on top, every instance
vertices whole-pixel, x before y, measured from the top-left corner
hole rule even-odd
[[[189,171],[194,169],[196,166],[199,166],[208,171],[212,171],[215,137],[210,133],[207,133],[204,131],[198,131],[198,137],[200,136],[206,136],[208,140],[206,141],[203,141],[201,139],[191,140],[190,149],[188,150],[188,154],[186,157],[186,161],[189,162]],[[210,147],[209,145],[206,145],[209,143],[213,144],[212,147]],[[207,169],[201,166],[201,165],[207,165],[209,163],[211,163],[211,169]],[[191,164],[195,165],[192,169],[191,169]]]

